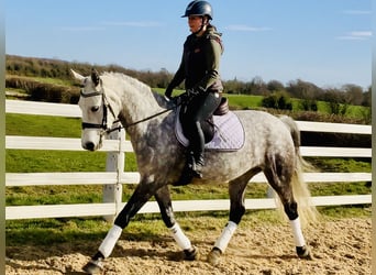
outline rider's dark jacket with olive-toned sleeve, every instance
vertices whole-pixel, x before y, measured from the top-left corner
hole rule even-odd
[[[170,96],[173,89],[185,81],[186,89],[200,92],[223,90],[219,75],[220,58],[223,53],[221,34],[208,25],[201,36],[190,34],[184,43],[180,66],[166,89]]]

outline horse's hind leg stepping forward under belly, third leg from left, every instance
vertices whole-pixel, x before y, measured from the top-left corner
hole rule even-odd
[[[245,213],[244,206],[244,190],[250,179],[259,172],[258,168],[252,169],[243,176],[233,179],[229,185],[230,194],[230,219],[222,230],[220,238],[215,241],[214,248],[208,255],[208,262],[212,265],[217,265],[220,261],[220,256],[224,253],[228,244],[234,234],[237,224],[242,220]]]

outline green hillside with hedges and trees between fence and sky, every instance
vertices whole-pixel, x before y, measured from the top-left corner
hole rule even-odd
[[[164,92],[173,75],[164,69],[161,72],[137,72],[126,69],[118,65],[96,65],[75,62],[65,62],[48,58],[22,57],[7,55],[7,76],[5,88],[8,98],[18,97],[34,101],[77,103],[79,97],[79,86],[74,80],[70,68],[80,72],[82,75],[89,75],[91,68],[95,67],[99,72],[119,72],[147,84],[158,92]],[[257,87],[252,84],[236,82],[237,88],[234,88],[234,81],[224,81],[225,92],[228,92],[231,109],[259,109],[266,108],[268,112],[278,114],[284,113],[291,116],[297,120],[307,121],[328,121],[328,122],[345,122],[345,123],[371,123],[371,108],[367,106],[351,105],[344,99],[334,97],[334,95],[346,95],[347,98],[352,94],[356,94],[357,98],[367,99],[368,94],[358,95],[360,90],[356,87],[351,87],[353,90],[338,91],[320,90],[312,84],[301,80],[289,87],[283,85],[259,84],[259,89],[266,89],[263,95],[257,95]],[[248,87],[248,88],[245,88]],[[253,87],[253,88],[252,88]],[[183,89],[183,87],[179,87]],[[318,92],[318,98],[299,98],[292,95],[299,95],[299,89],[308,89],[314,94]],[[347,87],[349,88],[349,87]],[[247,89],[256,89],[255,94],[250,94]],[[319,90],[318,90],[319,89]],[[244,95],[240,95],[244,92]],[[306,92],[307,94],[307,92]],[[355,95],[354,94],[354,95]],[[321,96],[319,96],[321,95]],[[307,94],[307,97],[309,94]],[[327,97],[325,101],[320,100],[320,97]],[[329,97],[331,96],[331,97]],[[311,97],[311,96],[309,96]],[[323,99],[325,99],[323,97]],[[268,100],[264,100],[268,99]],[[283,100],[281,100],[283,99]],[[273,100],[270,102],[270,100]],[[286,106],[290,106],[291,110],[286,109],[286,106],[276,106],[276,102],[284,101]],[[314,108],[312,109],[312,106]],[[274,108],[268,108],[274,107]]]

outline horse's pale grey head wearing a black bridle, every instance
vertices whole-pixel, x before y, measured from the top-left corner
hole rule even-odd
[[[96,151],[102,146],[102,138],[113,124],[115,114],[106,98],[102,79],[96,70],[88,77],[73,69],[71,73],[82,85],[78,101],[82,111],[81,145],[86,150]]]

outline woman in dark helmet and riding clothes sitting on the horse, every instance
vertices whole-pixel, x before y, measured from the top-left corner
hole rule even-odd
[[[202,177],[204,136],[200,122],[213,114],[221,102],[223,90],[219,75],[223,47],[221,34],[210,24],[213,18],[211,4],[207,1],[192,1],[183,18],[188,18],[191,34],[184,43],[179,68],[165,91],[165,97],[170,99],[174,88],[185,80],[181,118],[189,146],[186,166],[176,185],[186,185],[193,177]]]

